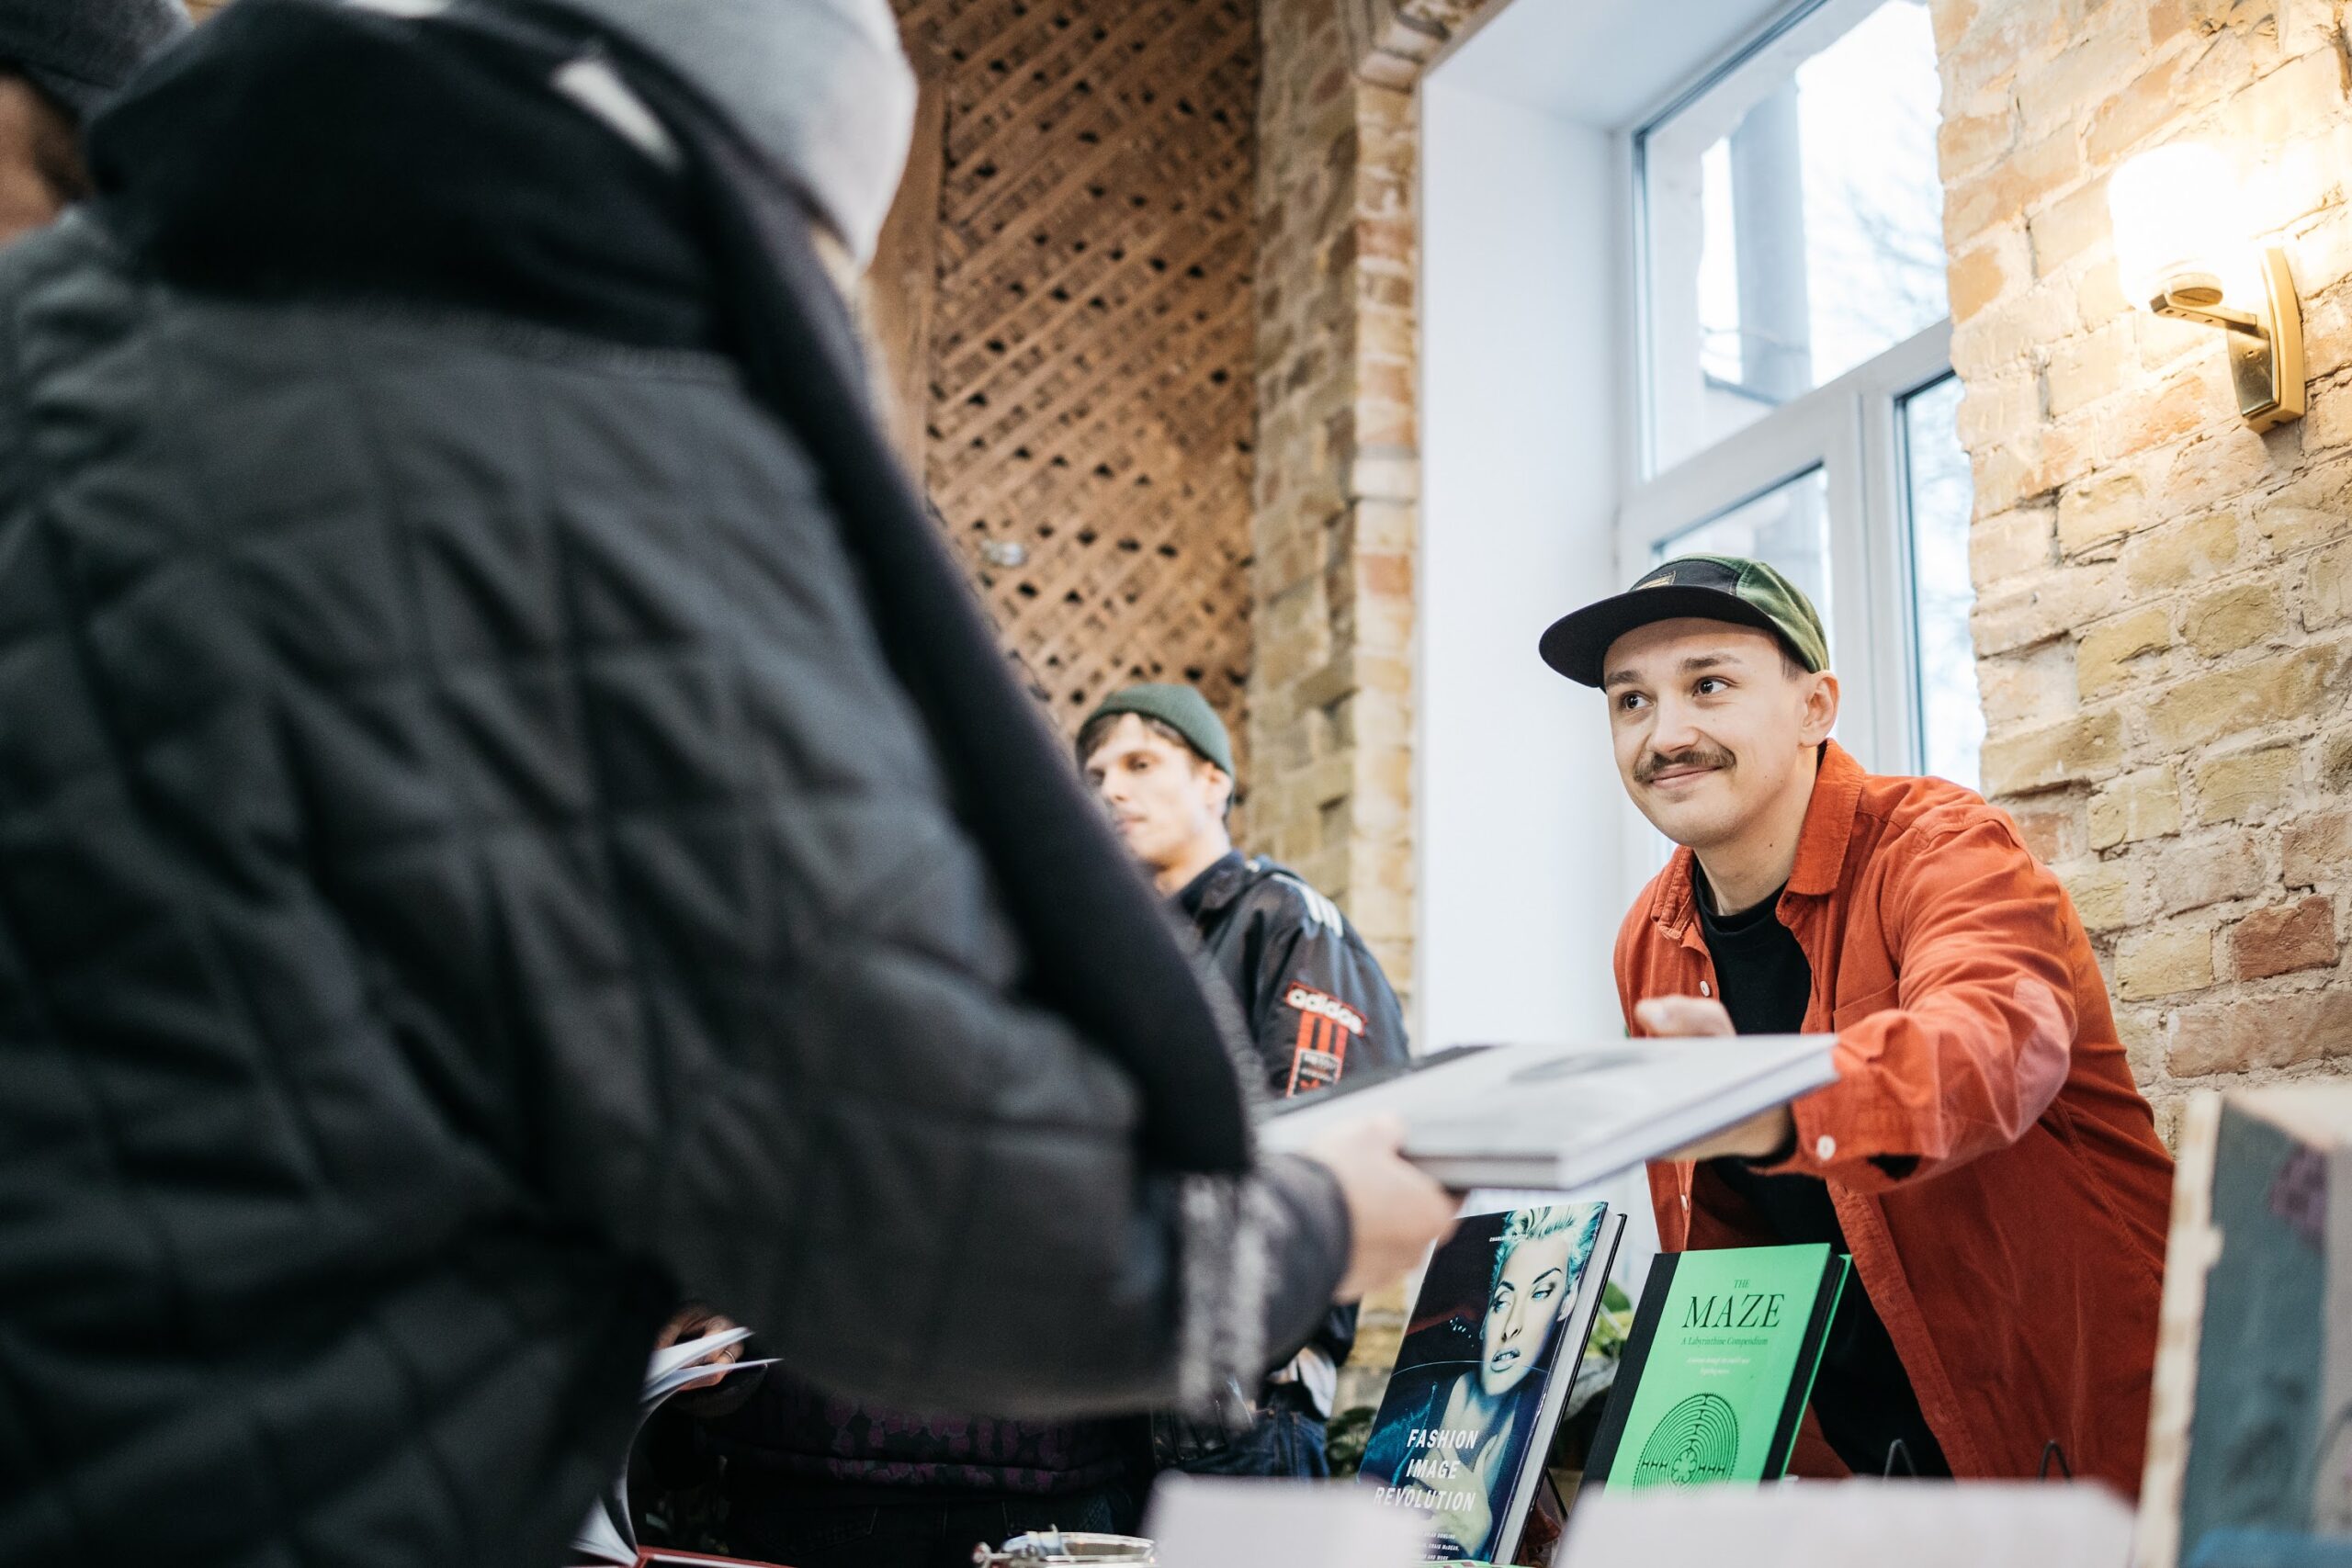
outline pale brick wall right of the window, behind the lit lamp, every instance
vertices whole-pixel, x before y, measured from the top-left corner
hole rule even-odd
[[[1938,0],[1985,788],[2074,891],[2166,1126],[2352,1058],[2352,214],[2343,7]],[[2201,136],[2305,301],[2312,411],[2117,287],[2105,181]],[[2192,200],[2194,193],[2183,193]]]

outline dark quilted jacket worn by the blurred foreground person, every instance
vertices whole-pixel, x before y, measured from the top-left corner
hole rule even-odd
[[[350,167],[395,66],[221,127]],[[393,233],[506,150],[459,132]],[[0,254],[0,1563],[550,1563],[684,1291],[1014,1415],[1305,1335],[1329,1178],[1155,1166],[1028,999],[847,494],[729,357],[120,233]]]

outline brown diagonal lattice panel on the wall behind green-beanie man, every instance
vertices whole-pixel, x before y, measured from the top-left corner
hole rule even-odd
[[[927,421],[948,536],[1063,726],[1178,679],[1240,741],[1256,7],[898,14],[948,82]]]

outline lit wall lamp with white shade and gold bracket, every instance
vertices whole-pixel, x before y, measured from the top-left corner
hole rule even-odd
[[[2237,172],[2201,141],[2140,153],[2107,181],[2124,296],[2220,327],[2237,411],[2256,430],[2303,418],[2303,301],[2277,244],[2256,249]]]

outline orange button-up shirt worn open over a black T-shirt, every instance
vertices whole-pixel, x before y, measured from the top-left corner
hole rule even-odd
[[[1675,851],[1625,917],[1628,1023],[1644,997],[1719,994],[1691,875]],[[1830,743],[1778,917],[1839,1081],[1797,1100],[1766,1173],[1828,1182],[1952,1474],[2032,1476],[2056,1439],[2138,1495],[2173,1161],[2065,889],[2006,813]],[[1689,1161],[1649,1187],[1668,1251],[1773,1241]],[[1818,1436],[1797,1469],[1839,1474]]]

